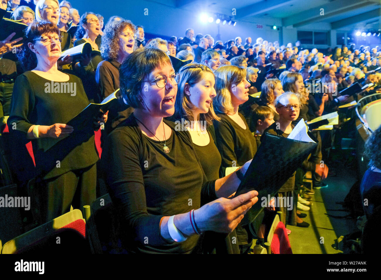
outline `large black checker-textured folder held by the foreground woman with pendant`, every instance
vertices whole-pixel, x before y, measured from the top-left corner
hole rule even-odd
[[[309,136],[314,139],[311,133]],[[261,146],[235,194],[237,196],[250,190],[258,191],[258,202],[245,214],[241,225],[254,221],[263,210],[262,198],[277,194],[316,146],[317,143],[314,142],[303,142],[269,133],[262,136]]]

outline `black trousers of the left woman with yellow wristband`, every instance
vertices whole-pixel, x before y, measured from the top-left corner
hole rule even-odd
[[[82,210],[96,198],[96,164],[44,180],[28,189],[33,217],[38,224],[74,209]]]

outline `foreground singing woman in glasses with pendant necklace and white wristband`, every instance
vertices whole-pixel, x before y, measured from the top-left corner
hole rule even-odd
[[[109,134],[101,162],[132,252],[192,253],[200,233],[231,232],[257,201],[256,191],[224,198],[223,184],[208,181],[190,134],[164,119],[177,90],[157,48],[139,48],[120,67],[120,91],[135,111]],[[201,200],[211,202],[200,208]]]

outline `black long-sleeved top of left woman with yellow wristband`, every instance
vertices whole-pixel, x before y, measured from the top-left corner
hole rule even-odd
[[[77,76],[69,74],[67,82],[53,82],[53,90],[51,83],[32,71],[27,71],[16,79],[8,118],[9,127],[16,123],[16,130],[27,133],[32,125],[67,123],[88,106],[89,101]],[[75,92],[69,91],[67,85],[71,89],[75,88]],[[55,144],[57,145],[54,146]],[[48,179],[70,170],[91,166],[99,160],[94,145],[94,133],[84,135],[76,131],[62,140],[34,139],[32,146],[37,173],[45,174],[45,179]],[[50,150],[46,152],[48,149]],[[60,166],[57,166],[57,160],[60,160]]]

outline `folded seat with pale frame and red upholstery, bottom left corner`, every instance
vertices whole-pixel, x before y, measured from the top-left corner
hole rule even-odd
[[[90,253],[85,240],[85,220],[74,209],[6,242],[2,254]]]

